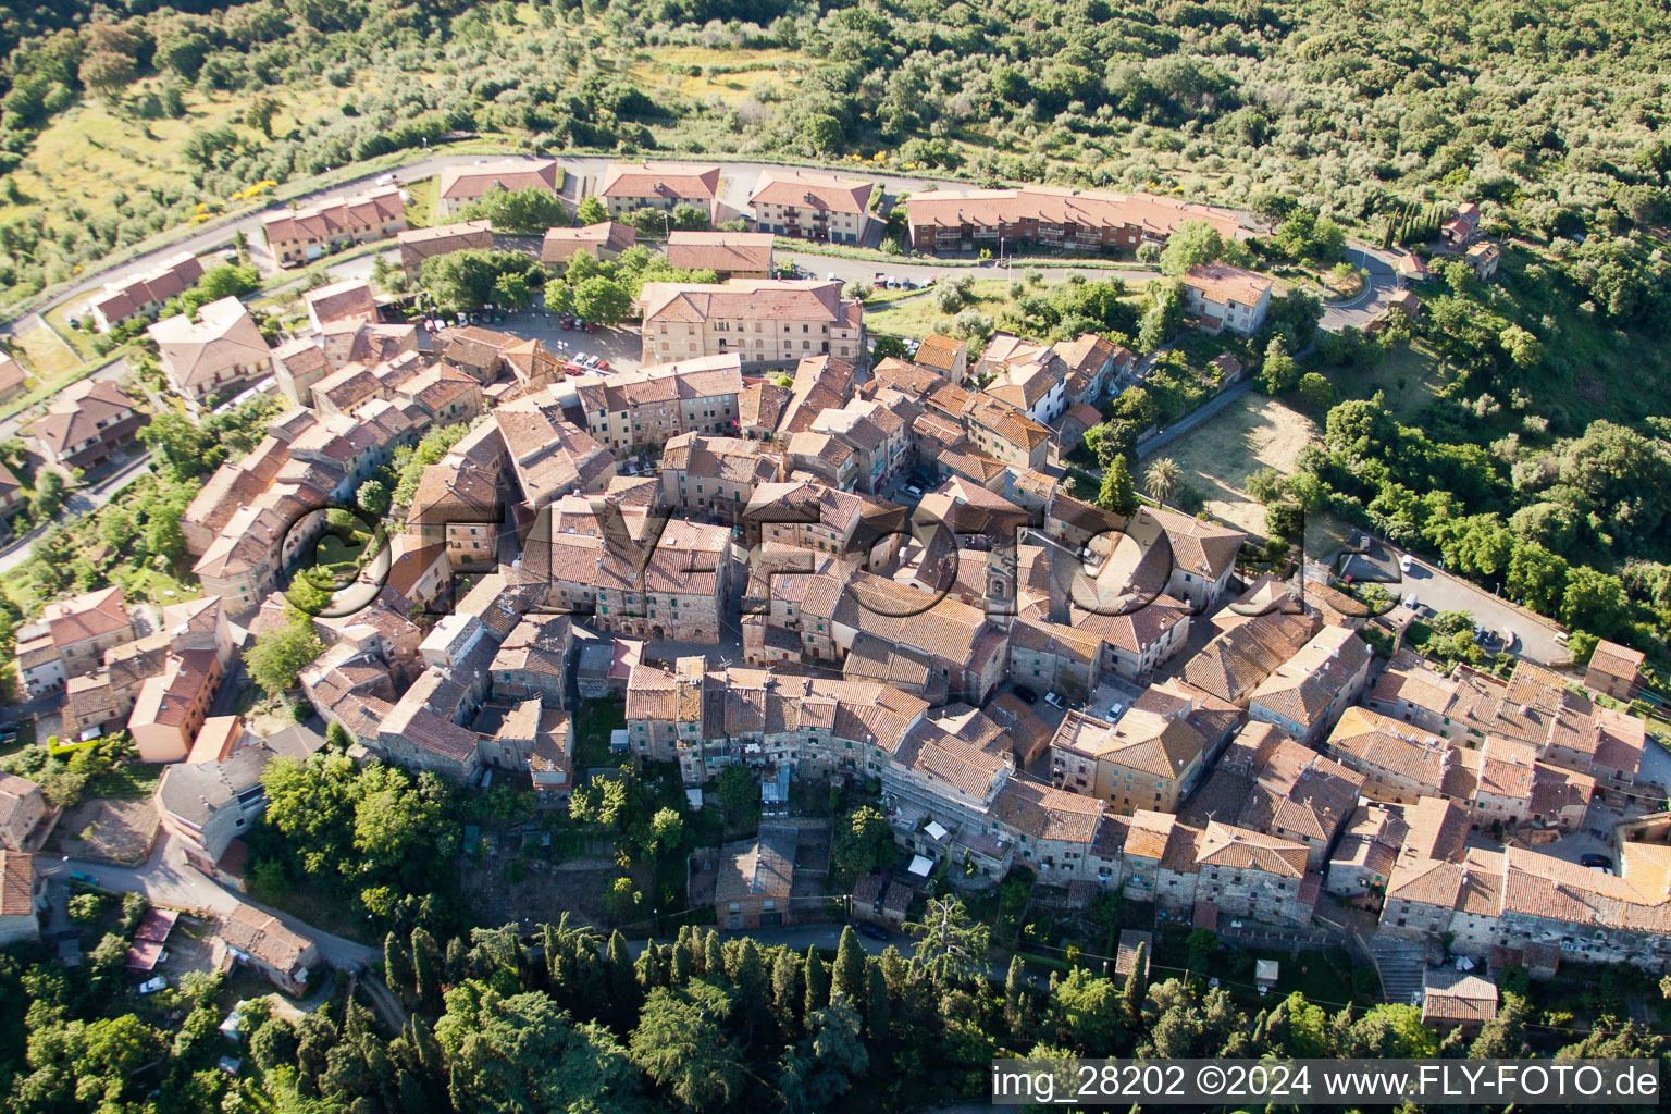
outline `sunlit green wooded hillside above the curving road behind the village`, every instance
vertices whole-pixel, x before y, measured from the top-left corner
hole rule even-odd
[[[150,7],[5,23],[22,43],[0,169],[23,170],[0,182],[7,284],[65,277],[257,182],[458,130],[1277,192],[1348,222],[1469,197],[1536,237],[1661,219],[1671,164],[1671,20],[1628,0]],[[33,152],[77,114],[82,157],[134,165],[52,197]],[[60,174],[79,152],[52,150]]]

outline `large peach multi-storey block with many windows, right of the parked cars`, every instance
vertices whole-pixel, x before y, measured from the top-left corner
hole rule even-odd
[[[762,369],[807,356],[857,361],[864,354],[864,309],[842,299],[841,282],[647,282],[638,304],[647,366],[735,354]]]

